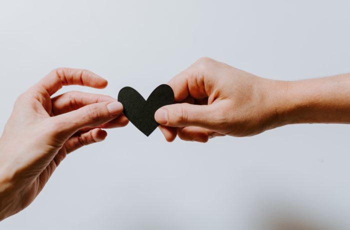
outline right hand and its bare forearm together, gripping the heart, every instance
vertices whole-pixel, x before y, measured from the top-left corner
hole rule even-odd
[[[250,136],[294,123],[350,123],[350,74],[272,80],[203,57],[168,84],[177,103],[154,115],[167,141]]]

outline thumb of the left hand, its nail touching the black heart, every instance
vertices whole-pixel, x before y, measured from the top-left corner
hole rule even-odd
[[[52,117],[60,130],[74,133],[84,127],[94,127],[114,119],[123,111],[118,101],[105,101],[83,106],[71,112]]]

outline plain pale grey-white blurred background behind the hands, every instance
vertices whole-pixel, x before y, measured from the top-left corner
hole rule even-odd
[[[146,97],[201,56],[273,79],[350,72],[349,9],[347,0],[1,0],[0,127],[15,98],[61,66],[109,84],[60,92],[114,97],[126,85]],[[68,155],[0,229],[350,228],[348,125],[205,144],[145,137],[132,124],[108,133]]]

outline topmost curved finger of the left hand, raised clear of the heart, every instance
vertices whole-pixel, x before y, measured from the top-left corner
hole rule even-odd
[[[43,87],[49,95],[52,95],[63,85],[72,84],[104,88],[108,82],[106,79],[85,69],[56,68],[50,71],[36,85]]]

